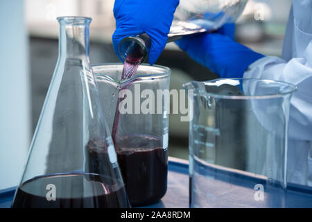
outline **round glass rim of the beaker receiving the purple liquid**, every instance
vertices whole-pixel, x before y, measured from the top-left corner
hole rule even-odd
[[[123,63],[121,62],[116,62],[116,63],[99,63],[99,64],[92,64],[92,69],[94,71],[94,74],[96,74],[96,76],[94,76],[95,78],[97,78],[99,75],[97,74],[97,72],[94,70],[94,68],[110,68],[110,67],[113,67],[113,66],[117,66],[119,67],[121,70],[123,69]],[[135,76],[132,76],[130,78],[126,78],[125,80],[114,80],[114,79],[111,79],[112,81],[114,81],[115,83],[118,83],[120,85],[126,85],[130,82],[133,82],[137,79],[150,79],[150,78],[166,78],[168,76],[171,75],[171,69],[168,68],[168,67],[164,67],[162,65],[149,65],[148,63],[142,63],[141,65],[139,65],[139,69],[144,69],[144,68],[148,68],[148,69],[153,69],[153,68],[156,68],[156,69],[160,69],[162,71],[159,71],[155,74],[151,73],[151,74],[136,74]]]

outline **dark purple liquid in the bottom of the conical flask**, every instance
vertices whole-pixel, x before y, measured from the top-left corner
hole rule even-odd
[[[24,182],[15,194],[13,208],[129,207],[124,187],[108,178],[85,173],[36,177]],[[55,185],[56,200],[47,200],[46,185]]]

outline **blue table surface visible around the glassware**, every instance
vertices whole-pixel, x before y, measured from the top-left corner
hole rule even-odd
[[[15,189],[16,187],[11,187],[0,190],[0,208],[10,207]],[[146,207],[189,207],[189,165],[186,160],[169,157],[166,195],[158,203]],[[226,203],[222,207],[227,207]],[[286,207],[312,207],[312,189],[288,186]]]

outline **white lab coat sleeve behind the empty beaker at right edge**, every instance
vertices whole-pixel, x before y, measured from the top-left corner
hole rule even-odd
[[[253,62],[243,77],[297,85],[297,91],[291,98],[288,137],[312,141],[312,40],[304,51],[304,57],[286,62],[275,56],[266,56]]]

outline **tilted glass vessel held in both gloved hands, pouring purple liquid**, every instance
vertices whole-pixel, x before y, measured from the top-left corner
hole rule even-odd
[[[225,23],[235,22],[247,0],[180,0],[175,10],[167,42],[180,40],[184,35],[214,31]],[[124,37],[119,43],[119,55],[145,62],[150,50],[150,37],[143,33]]]

